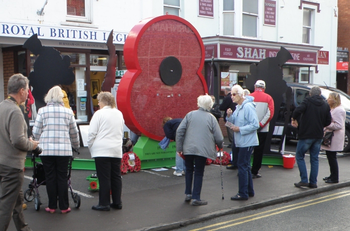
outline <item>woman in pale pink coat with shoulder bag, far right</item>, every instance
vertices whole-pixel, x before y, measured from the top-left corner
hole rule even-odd
[[[344,148],[344,134],[345,134],[345,109],[340,105],[340,95],[336,92],[329,93],[327,102],[330,106],[330,113],[332,115],[332,123],[324,128],[325,132],[334,131],[330,147],[321,145],[321,149],[326,150],[328,159],[330,176],[324,177],[326,183],[339,182],[338,162],[336,160],[336,152],[341,152]]]

